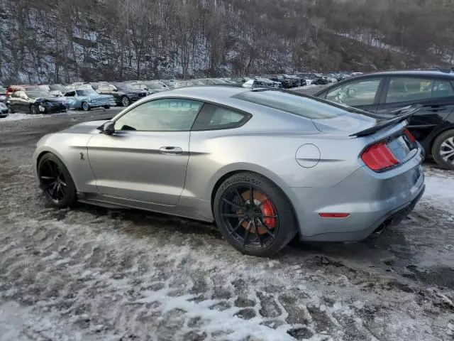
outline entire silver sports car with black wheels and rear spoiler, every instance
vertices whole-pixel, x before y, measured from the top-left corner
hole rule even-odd
[[[236,249],[270,256],[296,235],[356,241],[421,197],[421,147],[403,112],[378,117],[280,90],[188,87],[38,142],[57,207],[85,202],[216,221]]]

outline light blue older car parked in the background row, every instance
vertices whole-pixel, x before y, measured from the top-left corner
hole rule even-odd
[[[65,99],[71,108],[82,109],[85,112],[99,107],[109,109],[116,104],[114,96],[98,94],[94,90],[70,90],[65,93]]]

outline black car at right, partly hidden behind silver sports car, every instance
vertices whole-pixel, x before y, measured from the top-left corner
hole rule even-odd
[[[421,104],[409,119],[409,130],[426,155],[439,166],[454,169],[454,74],[375,72],[338,82],[314,96],[377,114]]]

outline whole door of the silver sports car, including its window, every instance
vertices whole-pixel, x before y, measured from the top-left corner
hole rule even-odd
[[[99,193],[176,205],[186,177],[189,131],[201,106],[189,99],[155,99],[118,117],[114,134],[94,134],[88,154]]]

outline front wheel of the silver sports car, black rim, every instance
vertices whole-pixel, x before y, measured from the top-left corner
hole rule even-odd
[[[38,163],[40,188],[56,207],[68,207],[76,202],[76,186],[70,172],[60,158],[44,154]]]

